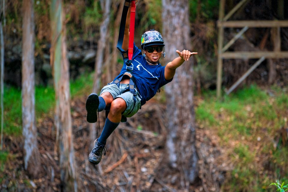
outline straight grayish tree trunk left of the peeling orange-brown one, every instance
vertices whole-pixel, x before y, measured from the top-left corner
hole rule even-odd
[[[35,124],[35,72],[34,72],[34,11],[33,0],[23,1],[22,47],[22,125],[24,137],[24,167],[32,177],[40,169]]]

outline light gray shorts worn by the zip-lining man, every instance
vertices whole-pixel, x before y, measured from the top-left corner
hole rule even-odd
[[[129,84],[120,84],[119,87],[116,84],[106,85],[102,88],[100,95],[104,92],[109,92],[112,95],[113,99],[122,98],[126,102],[127,106],[122,116],[132,117],[141,107],[141,98],[139,96],[139,93],[137,92],[136,103],[134,106],[134,95],[130,93],[130,91],[124,92],[125,90],[127,90],[127,88],[129,88]]]

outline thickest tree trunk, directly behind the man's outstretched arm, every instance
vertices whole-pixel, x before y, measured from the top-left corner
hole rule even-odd
[[[165,64],[178,56],[176,50],[191,50],[188,0],[162,0]],[[192,58],[176,70],[171,83],[165,85],[167,96],[167,153],[171,166],[180,168],[188,188],[198,176],[195,148],[195,112],[193,107]]]

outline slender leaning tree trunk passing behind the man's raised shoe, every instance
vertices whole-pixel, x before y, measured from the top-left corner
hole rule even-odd
[[[100,26],[100,38],[97,45],[97,53],[95,59],[95,75],[93,83],[93,93],[98,93],[100,88],[100,79],[102,75],[102,66],[104,62],[104,50],[107,46],[107,31],[110,22],[110,10],[111,10],[111,0],[101,0],[101,7],[104,10],[103,21]],[[96,124],[90,124],[90,140],[94,141],[96,137]]]

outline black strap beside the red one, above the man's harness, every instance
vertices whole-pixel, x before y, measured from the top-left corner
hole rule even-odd
[[[120,22],[118,42],[117,42],[117,49],[119,49],[119,51],[122,53],[125,64],[128,64],[128,54],[124,49],[122,49],[122,45],[123,45],[124,32],[125,32],[126,17],[127,17],[127,13],[129,10],[130,2],[131,0],[125,0],[125,3],[124,3],[121,22]]]

